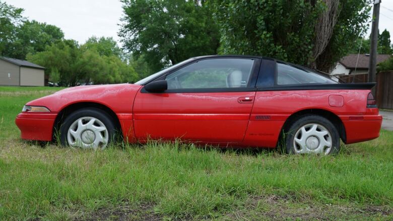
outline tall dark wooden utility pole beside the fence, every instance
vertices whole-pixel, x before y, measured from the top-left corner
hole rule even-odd
[[[378,22],[380,3],[381,0],[374,0],[371,26],[370,62],[368,65],[368,82],[376,82],[376,55],[378,47]],[[372,93],[375,95],[375,87],[372,89]]]

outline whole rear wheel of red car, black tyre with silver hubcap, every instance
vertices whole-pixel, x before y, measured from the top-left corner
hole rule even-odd
[[[334,124],[318,115],[304,115],[285,133],[287,154],[337,154],[340,135]]]

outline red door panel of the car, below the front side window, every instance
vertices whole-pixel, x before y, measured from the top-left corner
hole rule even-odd
[[[134,126],[138,139],[241,142],[255,92],[138,93]]]

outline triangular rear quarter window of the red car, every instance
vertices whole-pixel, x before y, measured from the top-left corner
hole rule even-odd
[[[277,62],[277,84],[335,84],[336,82],[305,68]]]

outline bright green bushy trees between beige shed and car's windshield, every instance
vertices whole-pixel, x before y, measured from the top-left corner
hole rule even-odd
[[[139,79],[134,68],[121,60],[119,48],[112,39],[91,38],[79,45],[64,40],[47,46],[42,52],[28,54],[27,59],[46,67],[47,74],[59,73],[59,84],[114,84],[135,82]]]

